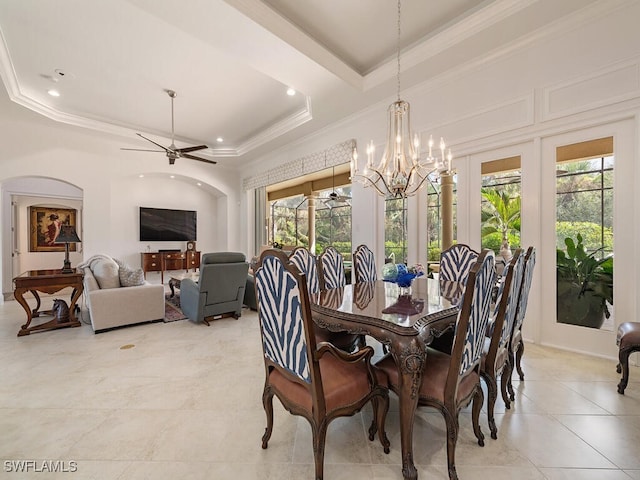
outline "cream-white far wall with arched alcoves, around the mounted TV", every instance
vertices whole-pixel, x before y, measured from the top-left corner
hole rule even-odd
[[[11,208],[7,202],[19,179],[58,180],[82,192],[85,259],[107,253],[139,265],[140,252],[147,245],[138,241],[139,206],[197,210],[198,250],[244,251],[237,221],[241,190],[238,175],[231,169],[181,159],[171,166],[160,154],[122,151],[125,139],[53,122],[10,102],[6,94],[0,96],[0,143],[0,271],[5,296],[11,297],[12,293]],[[141,174],[144,178],[139,178]],[[45,191],[32,193],[55,197],[59,191],[50,189],[55,184],[50,181],[42,187]],[[151,247],[157,250],[185,245],[169,242]],[[36,262],[30,266],[50,265],[47,261],[46,265]]]

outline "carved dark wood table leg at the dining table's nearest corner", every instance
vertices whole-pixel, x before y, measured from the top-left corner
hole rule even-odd
[[[413,463],[413,422],[418,406],[422,367],[426,351],[422,341],[413,337],[406,343],[393,345],[393,356],[400,370],[398,398],[400,402],[400,443],[402,449],[402,476],[416,480],[418,471]]]

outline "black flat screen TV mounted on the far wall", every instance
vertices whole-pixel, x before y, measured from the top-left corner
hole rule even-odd
[[[141,242],[197,240],[198,212],[140,207]]]

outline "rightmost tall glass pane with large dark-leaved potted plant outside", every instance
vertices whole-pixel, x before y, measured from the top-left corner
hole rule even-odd
[[[557,148],[558,323],[613,330],[613,138]]]

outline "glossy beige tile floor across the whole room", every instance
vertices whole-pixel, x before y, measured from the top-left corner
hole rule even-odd
[[[264,371],[254,312],[210,327],[177,321],[94,335],[83,325],[17,338],[24,318],[15,301],[0,304],[0,478],[313,478],[310,428],[277,401],[269,448],[260,448]],[[483,416],[479,447],[462,414],[461,480],[640,479],[640,368],[624,396],[611,360],[527,344],[524,370],[512,409],[498,400],[498,440]],[[330,425],[326,480],[402,478],[394,396],[389,455],[367,440],[370,418],[367,407]],[[419,410],[414,444],[419,478],[446,480],[440,414]],[[34,463],[15,472],[19,460]],[[77,472],[42,472],[45,461]]]

